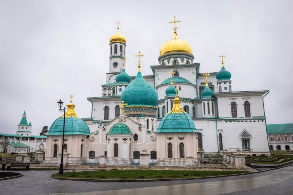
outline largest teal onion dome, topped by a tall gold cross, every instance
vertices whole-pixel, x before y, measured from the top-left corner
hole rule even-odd
[[[129,106],[151,106],[156,107],[158,94],[153,87],[144,80],[139,71],[133,80],[122,92],[121,101]]]

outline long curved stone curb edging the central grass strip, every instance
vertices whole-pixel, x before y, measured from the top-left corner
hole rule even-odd
[[[292,165],[287,165],[287,166],[292,166]],[[78,178],[59,178],[59,177],[54,177],[53,174],[51,175],[52,178],[54,179],[60,179],[60,180],[71,180],[71,181],[85,181],[85,182],[159,182],[159,181],[176,181],[176,180],[194,180],[194,179],[209,179],[209,178],[218,178],[218,177],[231,177],[231,176],[240,176],[240,175],[250,175],[254,173],[262,173],[265,171],[271,171],[274,169],[280,169],[283,167],[287,166],[282,166],[278,168],[273,168],[273,169],[268,169],[268,170],[263,170],[258,172],[250,172],[250,173],[240,173],[240,174],[233,174],[233,175],[220,175],[220,176],[209,176],[209,177],[190,177],[190,178],[167,178],[167,179],[78,179]]]

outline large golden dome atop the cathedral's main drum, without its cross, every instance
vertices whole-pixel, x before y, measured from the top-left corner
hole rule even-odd
[[[160,49],[160,56],[164,54],[168,54],[168,53],[175,53],[175,52],[188,53],[193,55],[192,48],[189,45],[189,43],[187,43],[183,39],[174,37],[173,39],[168,40],[162,45]]]

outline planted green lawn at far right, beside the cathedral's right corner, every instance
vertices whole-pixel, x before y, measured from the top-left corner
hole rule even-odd
[[[245,158],[247,163],[257,163],[257,164],[281,164],[284,162],[292,161],[293,156],[291,155],[272,155],[272,158],[269,156],[252,156],[250,158]],[[282,161],[281,161],[282,160]],[[251,162],[254,161],[254,162]],[[278,162],[279,161],[279,162]]]

